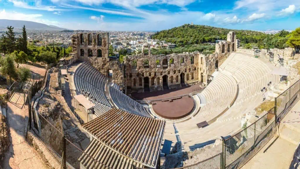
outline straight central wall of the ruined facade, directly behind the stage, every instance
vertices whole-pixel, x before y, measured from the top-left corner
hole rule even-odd
[[[191,62],[191,58],[193,62]],[[125,61],[127,87],[143,92],[144,85],[149,84],[150,91],[163,90],[163,77],[166,76],[167,85],[171,89],[181,88],[181,82],[187,84],[197,83],[199,81],[198,58],[199,52],[170,55],[137,54],[129,56]],[[171,59],[173,59],[173,63],[170,62]],[[146,60],[148,60],[149,65],[144,65]],[[136,66],[134,65],[135,61],[137,63]],[[147,79],[149,79],[149,83],[147,83]]]

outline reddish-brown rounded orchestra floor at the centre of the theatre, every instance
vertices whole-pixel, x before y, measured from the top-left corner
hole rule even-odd
[[[152,102],[153,111],[170,120],[184,118],[193,111],[194,100],[192,97],[184,96],[173,100],[162,100]]]

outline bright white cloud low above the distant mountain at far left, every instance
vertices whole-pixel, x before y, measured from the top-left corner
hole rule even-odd
[[[7,12],[5,9],[0,11],[0,19],[9,19],[9,20],[26,20],[33,21],[38,23],[44,23],[47,25],[58,25],[57,21],[50,21],[42,18],[42,14],[22,14],[18,12]]]

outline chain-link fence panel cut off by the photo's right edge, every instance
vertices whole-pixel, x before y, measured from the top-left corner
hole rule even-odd
[[[289,109],[300,99],[300,80],[296,81],[291,87],[275,98],[277,122],[280,122]]]

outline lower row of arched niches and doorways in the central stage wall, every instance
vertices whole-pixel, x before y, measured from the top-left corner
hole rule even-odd
[[[190,73],[191,74],[191,80],[194,79],[194,73]],[[203,73],[202,73],[202,76],[203,76]],[[189,74],[187,73],[185,75],[185,73],[181,73],[180,74],[180,83],[185,83],[185,77],[186,77],[186,80],[190,80],[190,76]],[[149,79],[149,77],[144,77],[143,80],[144,80],[144,88],[149,88],[149,86],[155,86],[155,79],[156,79],[156,85],[161,85],[161,78],[158,77],[158,78],[155,78],[155,77],[152,77],[151,80]],[[168,86],[168,79],[169,79],[169,76],[168,75],[163,75],[162,76],[162,80],[163,80],[163,86]],[[138,78],[139,80],[139,86],[143,86],[143,81],[142,81],[142,77],[139,77]],[[175,79],[174,79],[174,76],[170,76],[170,84],[174,84],[174,83],[178,83],[179,82],[179,76],[176,75],[175,76]],[[134,78],[133,79],[133,86],[136,87],[137,86],[137,79]]]

